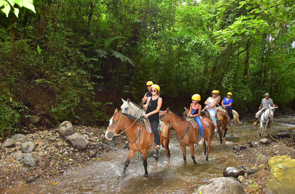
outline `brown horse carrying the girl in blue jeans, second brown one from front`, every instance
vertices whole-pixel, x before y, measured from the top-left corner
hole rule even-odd
[[[177,140],[180,144],[183,160],[186,163],[186,146],[189,146],[191,149],[191,158],[196,164],[195,160],[195,147],[194,144],[198,142],[199,130],[194,129],[191,122],[187,121],[185,118],[177,115],[167,108],[167,110],[163,111],[160,114],[160,120],[165,121],[168,124],[171,124],[173,129],[176,132]],[[214,134],[215,125],[212,120],[205,118],[205,120],[209,123],[209,126],[204,130],[204,140],[208,141],[208,151],[206,160],[208,160],[208,156],[211,149],[211,140]],[[203,141],[204,147],[204,155],[206,155],[206,143]]]

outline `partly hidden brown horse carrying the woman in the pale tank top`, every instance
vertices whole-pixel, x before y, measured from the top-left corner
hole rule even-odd
[[[186,107],[184,107],[184,113],[183,113],[183,117],[186,117],[187,113],[189,112],[189,109],[187,109]],[[206,112],[207,115],[204,113]],[[219,111],[221,117],[222,117],[222,120],[217,120],[216,121],[216,124],[217,124],[217,133],[218,133],[218,136],[219,136],[219,139],[220,139],[220,144],[222,143],[225,143],[225,134],[227,132],[227,120],[228,120],[228,116],[226,113],[224,113],[223,111]],[[207,117],[211,120],[210,118],[210,114],[207,110],[204,110],[203,113],[201,114],[202,117]],[[224,131],[224,134],[223,134],[223,138],[222,138],[222,132],[220,130],[220,127],[222,127],[222,130]]]

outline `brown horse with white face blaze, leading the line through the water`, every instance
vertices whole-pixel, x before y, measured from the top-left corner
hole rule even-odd
[[[136,119],[135,117],[131,115],[122,113],[122,110],[118,112],[116,108],[113,117],[110,119],[110,124],[105,134],[106,139],[112,140],[113,136],[118,135],[117,133],[121,129],[128,136],[128,144],[130,146],[129,155],[124,164],[122,178],[126,177],[127,167],[136,151],[139,151],[142,153],[143,166],[145,167],[145,177],[147,177],[148,176],[148,170],[147,170],[148,149],[153,149],[154,147],[153,146],[154,135],[152,133],[149,133],[147,130],[145,130],[144,124],[140,120]],[[161,134],[162,134],[162,131],[159,133],[160,144],[163,144],[166,150],[166,154],[168,157],[168,166],[170,166],[170,150],[169,150],[170,130],[168,130],[166,137],[162,136]],[[158,156],[155,157],[155,166],[157,165],[157,162],[158,162]]]

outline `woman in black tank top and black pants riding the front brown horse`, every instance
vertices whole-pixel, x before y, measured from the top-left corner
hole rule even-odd
[[[148,97],[147,102],[143,107],[147,108],[145,112],[145,118],[148,118],[150,120],[150,124],[152,126],[155,143],[156,143],[156,151],[154,153],[154,156],[160,155],[160,135],[157,130],[159,125],[159,110],[162,106],[162,98],[160,98],[160,86],[157,84],[153,84],[150,87],[150,91],[152,92],[152,96]]]

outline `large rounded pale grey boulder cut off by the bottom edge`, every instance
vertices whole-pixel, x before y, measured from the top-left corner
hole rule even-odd
[[[245,194],[243,187],[236,180],[228,177],[213,178],[206,185],[197,188],[192,194]]]

